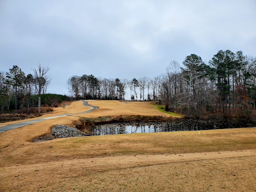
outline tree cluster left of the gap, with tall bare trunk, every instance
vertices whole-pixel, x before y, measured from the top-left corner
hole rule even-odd
[[[66,99],[64,95],[46,94],[50,84],[47,75],[49,67],[40,64],[33,68],[33,74],[27,74],[17,65],[13,65],[7,72],[0,72],[0,110],[8,111],[24,107],[38,107],[52,105]]]

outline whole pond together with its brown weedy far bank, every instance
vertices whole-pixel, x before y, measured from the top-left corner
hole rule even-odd
[[[187,117],[120,115],[80,118],[70,126],[90,135],[107,135],[255,127],[256,123],[250,118],[195,119]],[[39,140],[53,139],[50,134],[41,135],[32,141],[38,141],[38,138]],[[55,137],[55,135],[53,136]]]

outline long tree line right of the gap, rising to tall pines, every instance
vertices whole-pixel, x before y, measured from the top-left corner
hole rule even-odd
[[[165,110],[199,115],[231,113],[255,108],[256,58],[242,51],[219,50],[208,63],[196,54],[180,64],[172,60],[165,73],[131,80],[73,75],[67,80],[70,97],[76,99],[154,100]],[[127,96],[126,96],[127,97]]]

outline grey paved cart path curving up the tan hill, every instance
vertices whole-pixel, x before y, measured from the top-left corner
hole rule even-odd
[[[95,110],[97,109],[98,107],[97,106],[92,106],[90,104],[87,103],[87,101],[85,100],[81,100],[83,102],[83,105],[85,106],[91,106],[93,107],[92,109],[89,109],[89,110],[86,110],[84,112],[77,112],[77,113],[71,113],[71,114],[61,114],[61,115],[57,115],[57,116],[49,116],[49,117],[44,117],[44,118],[38,118],[38,119],[33,119],[33,120],[28,120],[28,121],[25,121],[25,122],[18,122],[18,123],[15,123],[15,124],[8,124],[6,126],[1,126],[0,127],[0,133],[1,132],[4,132],[6,130],[9,130],[9,129],[13,129],[13,128],[18,128],[18,127],[21,127],[21,126],[25,126],[25,125],[28,125],[28,124],[32,124],[34,122],[39,122],[39,121],[42,121],[42,120],[47,120],[47,119],[51,119],[51,118],[57,118],[57,117],[60,117],[60,116],[68,116],[68,115],[72,115],[72,114],[80,114],[80,113],[86,113],[86,112],[91,112],[92,110]]]

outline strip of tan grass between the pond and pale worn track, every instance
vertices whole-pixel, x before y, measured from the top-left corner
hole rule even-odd
[[[256,148],[256,128],[151,132],[58,138],[26,143],[0,159],[8,163],[35,163],[56,159],[130,154],[173,154]],[[40,151],[40,152],[38,152]],[[22,157],[21,157],[22,156]]]

